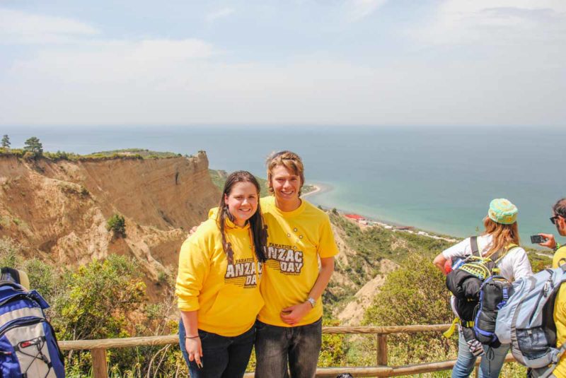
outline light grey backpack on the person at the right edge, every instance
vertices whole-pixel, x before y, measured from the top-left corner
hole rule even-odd
[[[511,343],[514,358],[530,367],[533,377],[550,376],[566,350],[566,343],[556,348],[553,318],[554,301],[565,280],[566,265],[516,280],[512,296],[497,313],[497,338]]]

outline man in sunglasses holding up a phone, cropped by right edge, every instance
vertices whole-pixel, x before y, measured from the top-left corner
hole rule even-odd
[[[566,236],[566,198],[560,199],[553,206],[553,216],[550,222],[556,226],[556,230],[562,236]],[[547,240],[541,246],[554,249],[553,268],[566,264],[566,245],[560,246],[552,234],[540,234]],[[556,347],[560,348],[566,341],[566,285],[560,286],[556,295],[554,305],[554,323],[556,325]],[[553,375],[558,378],[566,378],[566,353],[560,358]]]

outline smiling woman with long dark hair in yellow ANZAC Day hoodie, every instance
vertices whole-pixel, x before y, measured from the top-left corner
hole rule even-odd
[[[181,247],[175,294],[179,342],[193,378],[243,377],[255,338],[265,230],[260,185],[233,172],[219,211]]]

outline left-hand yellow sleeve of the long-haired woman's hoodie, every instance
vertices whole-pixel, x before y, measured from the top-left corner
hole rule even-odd
[[[209,269],[210,256],[204,235],[192,235],[190,239],[185,240],[179,254],[175,295],[178,297],[178,307],[181,311],[199,309],[198,297]]]

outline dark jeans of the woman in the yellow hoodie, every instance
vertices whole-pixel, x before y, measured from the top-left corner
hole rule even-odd
[[[191,378],[243,377],[252,354],[255,327],[238,336],[226,337],[199,329],[202,345],[202,368],[189,361],[185,348],[185,326],[179,321],[179,344]]]

